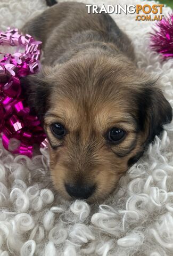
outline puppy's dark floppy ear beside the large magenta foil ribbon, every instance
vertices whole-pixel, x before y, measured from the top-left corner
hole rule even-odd
[[[21,77],[23,95],[40,121],[43,121],[44,114],[48,108],[48,98],[50,97],[51,86],[46,82],[43,71],[38,74]]]

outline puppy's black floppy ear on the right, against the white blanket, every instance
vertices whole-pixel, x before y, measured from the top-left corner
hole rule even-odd
[[[154,140],[163,130],[163,125],[172,120],[172,108],[164,98],[162,91],[149,83],[141,89],[138,98],[139,126],[141,130],[148,130],[146,143]]]

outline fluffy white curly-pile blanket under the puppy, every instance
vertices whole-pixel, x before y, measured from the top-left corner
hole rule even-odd
[[[104,1],[118,3],[155,2]],[[20,28],[44,9],[44,0],[1,0],[0,28]],[[160,86],[173,106],[173,61],[162,62],[149,47],[154,22],[135,21],[132,14],[112,17],[133,40],[138,66],[160,75]],[[162,139],[155,139],[120,180],[117,194],[92,207],[79,200],[55,201],[42,179],[47,173],[46,151],[30,160],[11,155],[0,145],[0,255],[173,255],[172,131],[170,124]]]

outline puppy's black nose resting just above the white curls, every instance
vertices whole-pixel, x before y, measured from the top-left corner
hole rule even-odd
[[[78,199],[87,199],[94,193],[95,185],[94,186],[81,186],[81,185],[72,185],[72,184],[65,184],[65,189],[67,193],[75,198]]]

